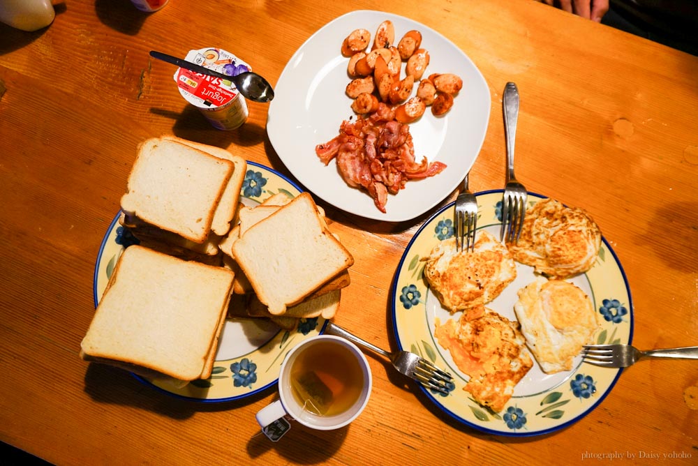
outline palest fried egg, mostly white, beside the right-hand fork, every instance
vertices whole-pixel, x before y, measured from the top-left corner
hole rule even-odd
[[[539,277],[519,290],[514,312],[544,373],[571,370],[599,327],[591,300],[572,283]]]

